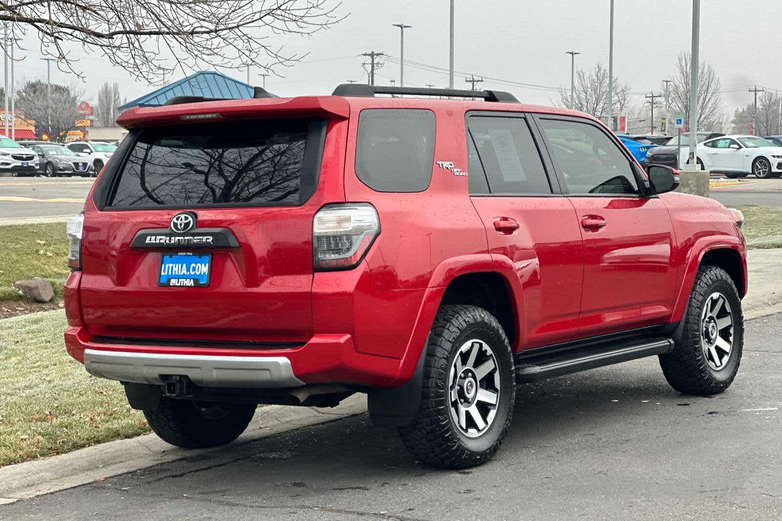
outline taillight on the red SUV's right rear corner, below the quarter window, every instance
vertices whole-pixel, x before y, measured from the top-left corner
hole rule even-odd
[[[355,268],[380,233],[378,212],[368,203],[332,204],[312,221],[315,271]]]

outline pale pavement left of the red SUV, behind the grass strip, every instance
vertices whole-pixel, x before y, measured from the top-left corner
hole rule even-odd
[[[94,178],[0,178],[0,225],[66,221],[84,207]]]

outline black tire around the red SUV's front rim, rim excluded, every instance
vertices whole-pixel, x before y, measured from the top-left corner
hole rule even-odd
[[[701,312],[712,293],[726,297],[733,313],[733,344],[730,358],[723,368],[715,370],[701,348]],[[684,314],[681,336],[668,354],[661,354],[660,366],[668,383],[680,393],[708,396],[722,393],[733,383],[741,363],[744,347],[744,315],[741,299],[730,275],[716,266],[701,266]]]

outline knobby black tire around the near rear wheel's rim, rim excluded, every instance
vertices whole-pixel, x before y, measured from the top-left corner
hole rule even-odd
[[[459,347],[477,338],[490,346],[500,374],[497,412],[479,437],[467,437],[450,414],[449,372]],[[515,371],[513,354],[497,318],[481,307],[439,308],[425,347],[421,405],[413,422],[399,428],[407,450],[428,465],[464,469],[481,465],[497,453],[513,418]]]

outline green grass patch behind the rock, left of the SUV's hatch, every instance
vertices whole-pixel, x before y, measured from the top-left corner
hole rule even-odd
[[[48,279],[55,296],[62,296],[68,276],[67,255],[64,222],[0,226],[0,300],[22,298],[11,285],[33,277]]]

